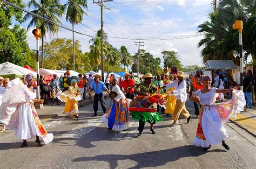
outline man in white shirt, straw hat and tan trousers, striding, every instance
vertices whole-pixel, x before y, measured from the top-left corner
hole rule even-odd
[[[187,119],[187,123],[190,122],[190,113],[186,110],[185,102],[187,100],[187,91],[186,91],[186,81],[183,78],[187,78],[188,75],[185,75],[183,72],[178,71],[177,74],[173,76],[177,77],[177,80],[174,80],[172,83],[166,85],[166,89],[174,87],[175,90],[172,91],[171,94],[176,96],[176,105],[173,112],[173,123],[170,127],[176,125],[177,120],[179,119],[179,115],[183,114]]]

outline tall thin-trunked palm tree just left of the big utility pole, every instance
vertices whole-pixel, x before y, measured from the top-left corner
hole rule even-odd
[[[75,37],[74,37],[74,25],[82,22],[84,14],[86,12],[83,8],[87,9],[86,0],[68,0],[64,4],[65,8],[68,6],[66,12],[66,20],[72,24],[73,30],[73,69],[75,70]],[[87,14],[86,14],[87,15]]]

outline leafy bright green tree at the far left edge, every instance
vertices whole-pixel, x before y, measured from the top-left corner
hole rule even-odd
[[[20,1],[10,2],[24,8]],[[29,45],[26,42],[26,30],[18,24],[12,25],[13,18],[18,23],[22,22],[22,11],[2,3],[0,18],[0,62],[9,61],[19,66],[28,64],[31,60]]]

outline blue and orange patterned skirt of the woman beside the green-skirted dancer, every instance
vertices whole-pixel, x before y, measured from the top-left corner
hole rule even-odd
[[[107,124],[113,131],[123,131],[129,128],[130,116],[126,99],[114,101],[107,114],[102,116],[102,122]]]

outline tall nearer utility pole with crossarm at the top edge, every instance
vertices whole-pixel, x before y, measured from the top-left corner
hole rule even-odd
[[[103,23],[103,9],[108,9],[104,3],[105,2],[110,2],[110,1],[113,1],[113,0],[93,0],[93,3],[94,4],[97,4],[100,6],[100,27],[101,27],[101,36],[100,36],[100,39],[102,39],[102,43],[101,43],[101,53],[102,53],[102,57],[101,57],[101,65],[102,65],[102,81],[104,82],[104,51],[103,51],[103,46],[104,46],[104,30],[103,30],[103,26],[104,26],[104,23]]]

